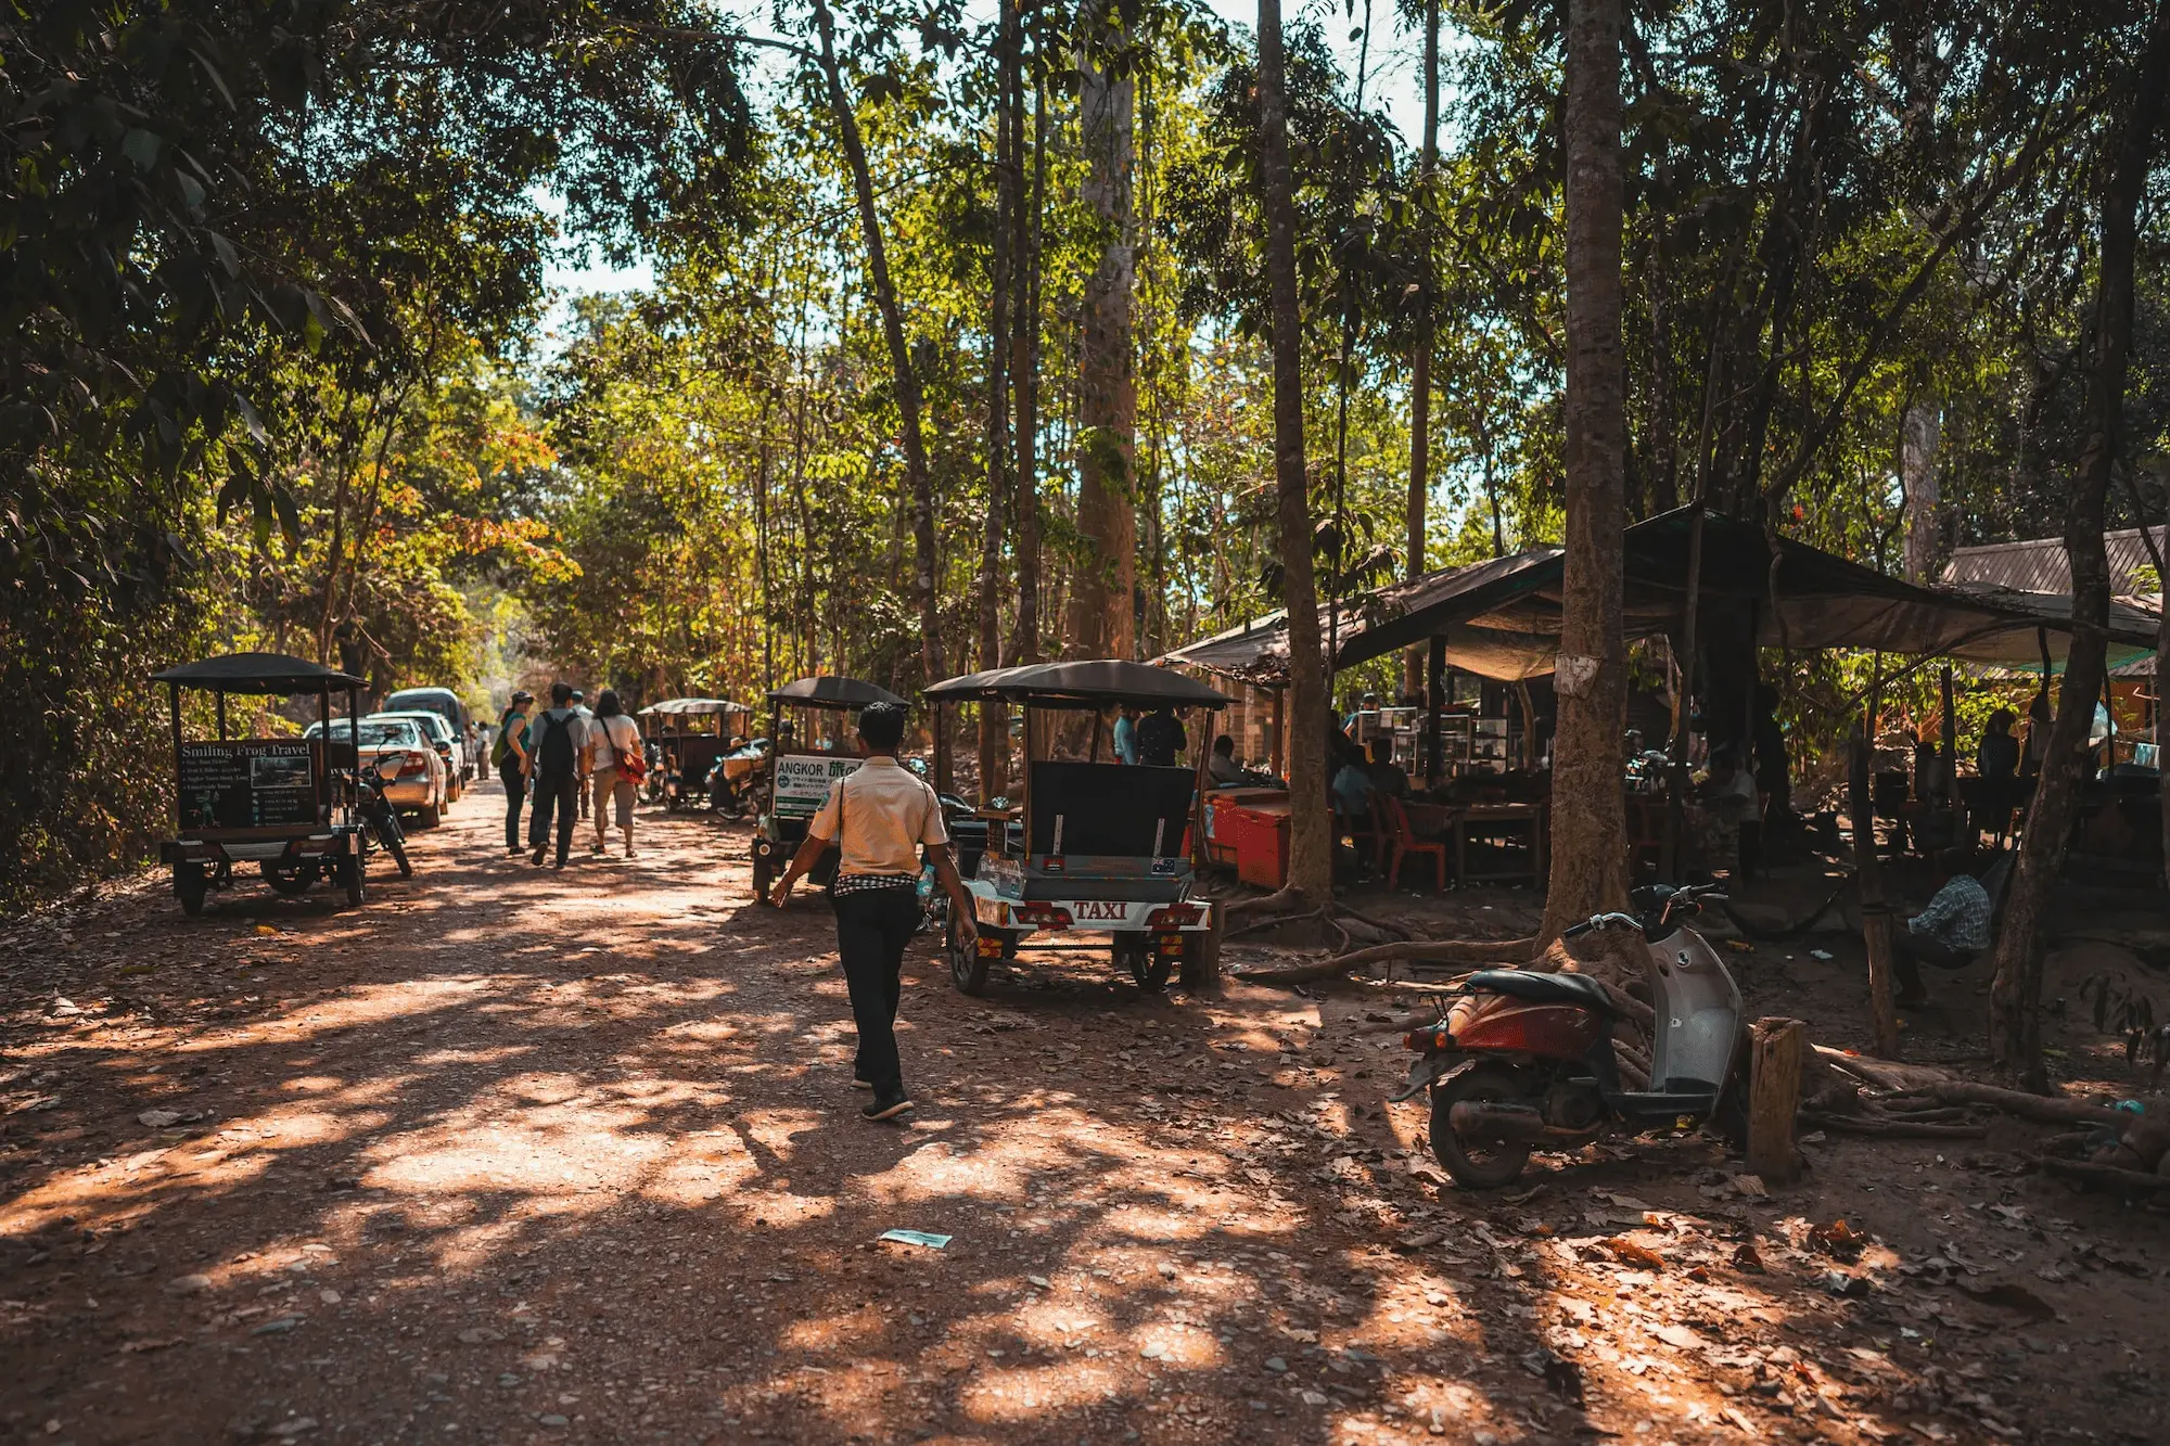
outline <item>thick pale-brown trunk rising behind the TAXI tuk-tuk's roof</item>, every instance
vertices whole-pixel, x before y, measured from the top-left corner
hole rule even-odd
[[[1113,4],[1096,2],[1083,17],[1078,46],[1078,137],[1085,178],[1078,204],[1092,217],[1100,261],[1085,278],[1078,330],[1078,536],[1083,556],[1070,580],[1070,625],[1063,651],[1076,658],[1137,654],[1137,371],[1131,356],[1131,297],[1137,261],[1131,250],[1133,113],[1137,83],[1111,72],[1124,28]]]

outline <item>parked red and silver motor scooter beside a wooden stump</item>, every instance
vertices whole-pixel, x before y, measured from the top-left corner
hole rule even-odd
[[[1656,1003],[1649,1086],[1621,1081],[1612,1049],[1619,999],[1586,975],[1486,968],[1460,981],[1441,1020],[1413,1029],[1417,1051],[1395,1101],[1430,1090],[1432,1155],[1467,1190],[1521,1175],[1534,1146],[1575,1149],[1610,1131],[1682,1118],[1738,1136],[1745,1120],[1740,990],[1688,921],[1714,886],[1634,890],[1638,914],[1597,914],[1565,931],[1636,929]]]

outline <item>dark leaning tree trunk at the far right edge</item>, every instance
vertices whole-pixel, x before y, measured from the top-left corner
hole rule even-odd
[[[2155,11],[2146,50],[2129,78],[2129,115],[2103,187],[2101,263],[2094,293],[2094,358],[2088,369],[2088,441],[2064,512],[2064,551],[2072,565],[2072,640],[2064,690],[2048,734],[2048,756],[2035,779],[2018,868],[2005,895],[2005,927],[1996,938],[1990,984],[1990,1055],[2042,1088],[2042,916],[2064,866],[2066,836],[2079,806],[2094,701],[2103,688],[2109,627],[2109,558],[2103,506],[2118,458],[2124,371],[2133,343],[2135,215],[2146,189],[2163,85],[2170,83],[2170,0]],[[2046,680],[2044,680],[2046,682]]]

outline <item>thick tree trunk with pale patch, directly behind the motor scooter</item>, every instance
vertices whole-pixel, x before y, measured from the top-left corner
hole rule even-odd
[[[1567,9],[1567,560],[1552,747],[1552,886],[1539,936],[1628,899],[1621,640],[1621,0]]]

